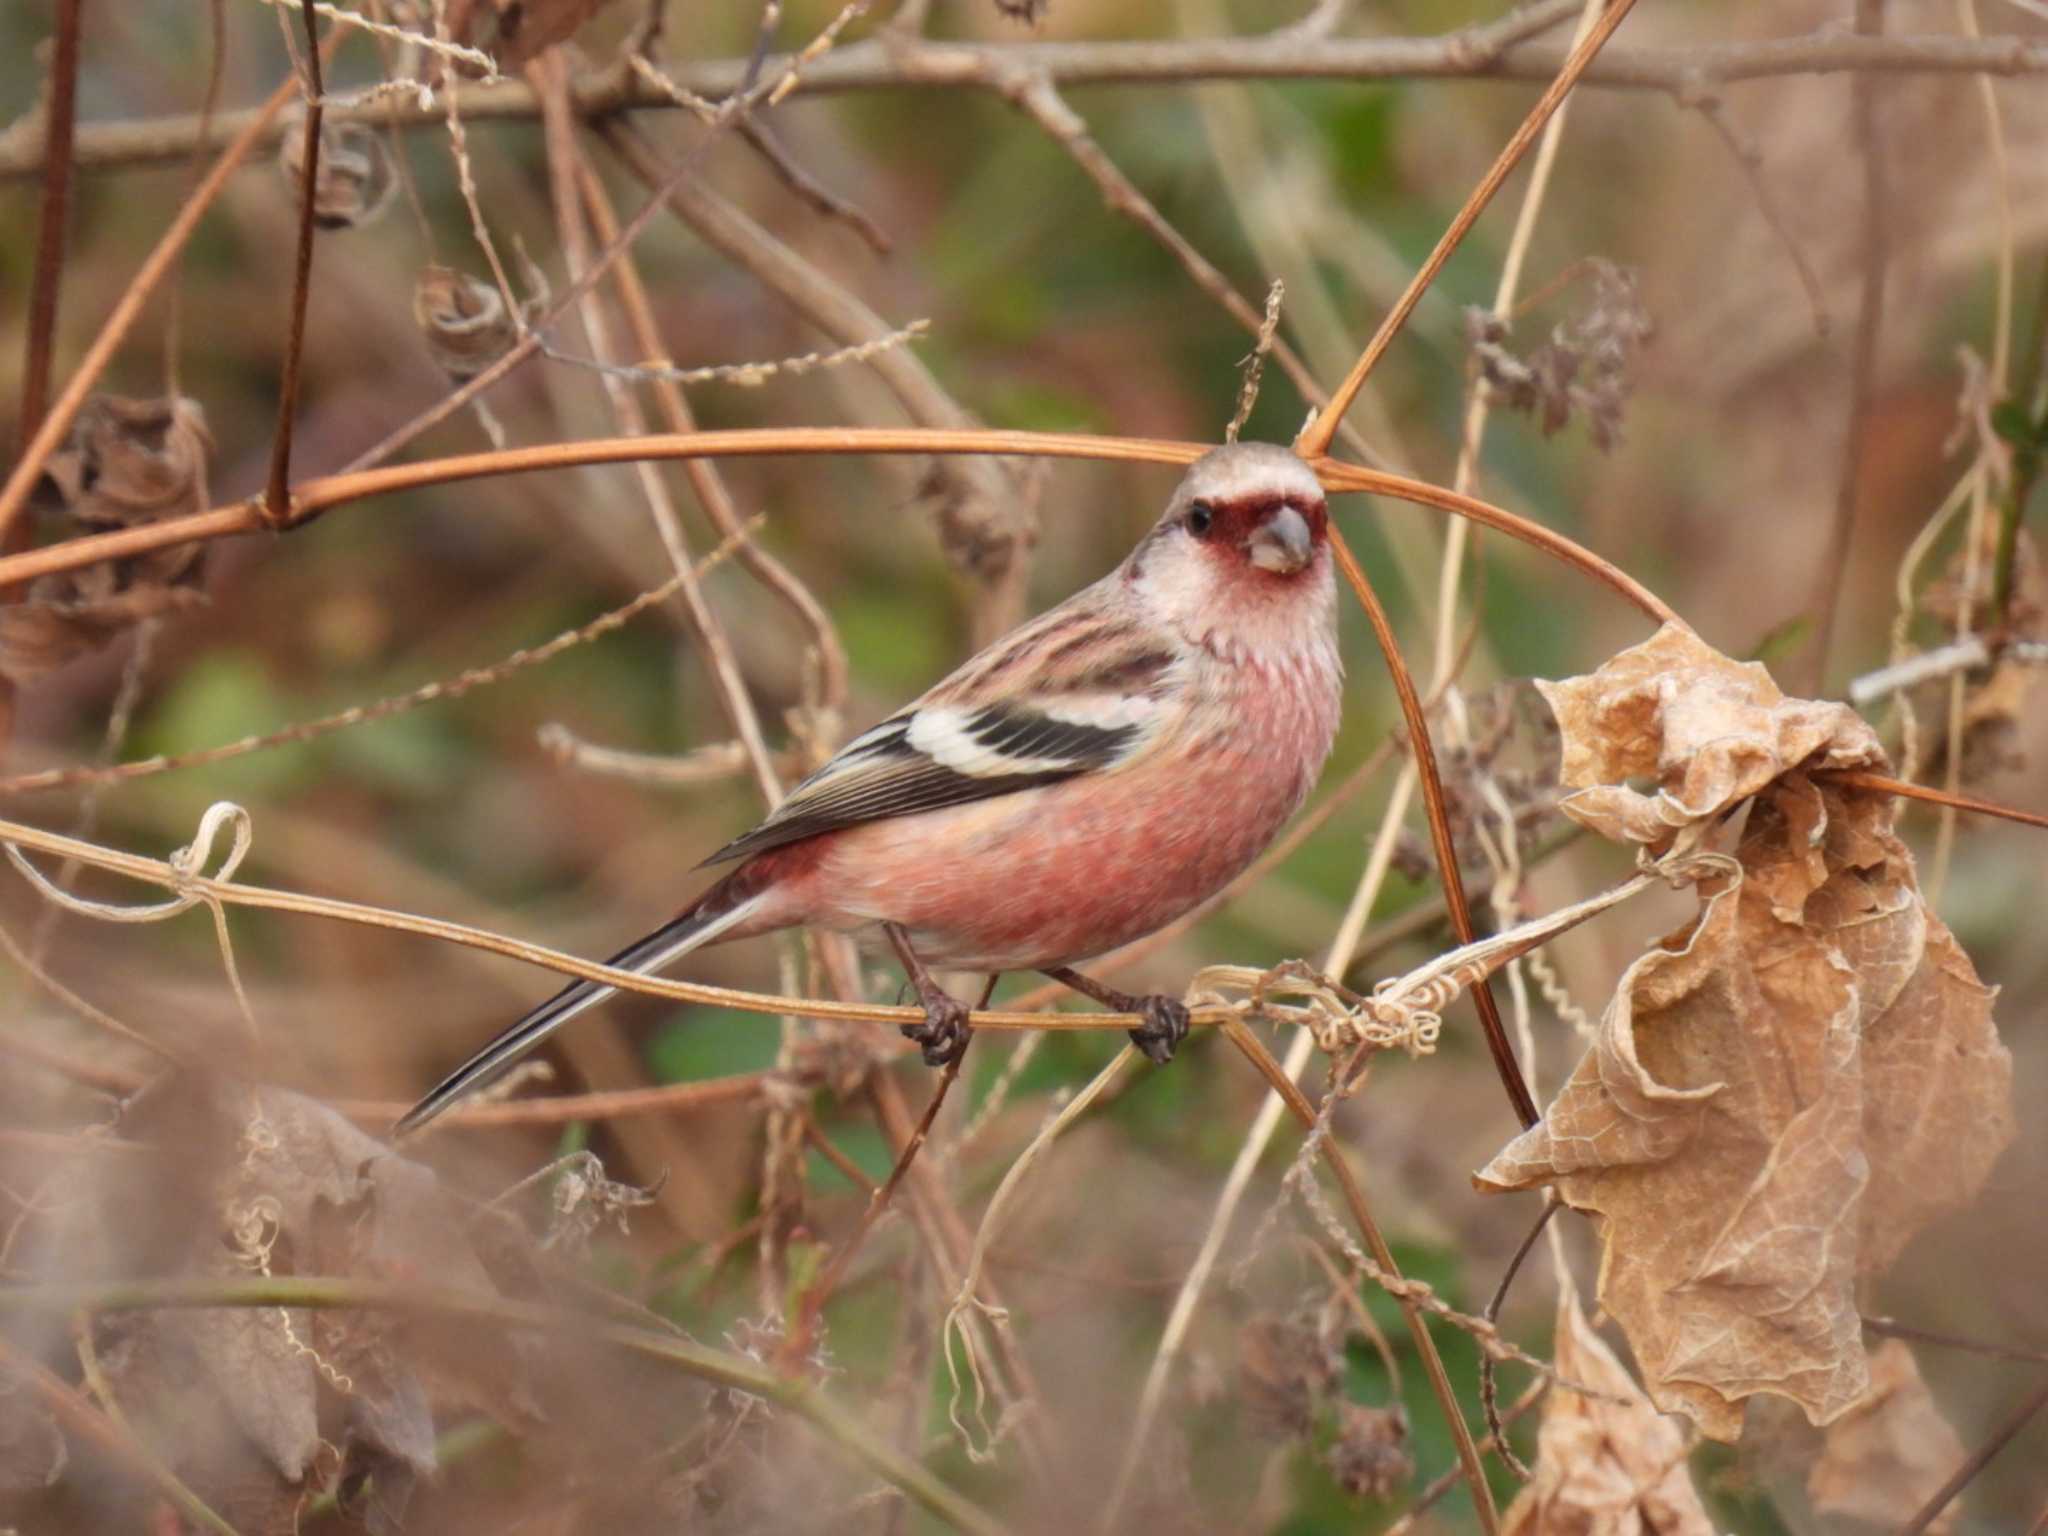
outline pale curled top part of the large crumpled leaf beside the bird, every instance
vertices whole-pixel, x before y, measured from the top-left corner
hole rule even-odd
[[[1792,768],[1884,762],[1847,705],[1786,698],[1761,664],[1731,662],[1675,623],[1591,676],[1536,686],[1565,733],[1561,778],[1577,791],[1561,809],[1616,842],[1659,844]]]

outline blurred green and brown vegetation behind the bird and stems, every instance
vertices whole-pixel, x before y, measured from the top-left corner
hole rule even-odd
[[[1944,6],[1896,4],[1894,25],[1948,31]],[[639,23],[631,0],[604,8],[580,35],[586,59],[608,59]],[[147,0],[86,10],[80,119],[154,119],[193,113],[209,72],[205,6]],[[793,0],[780,39],[807,39],[831,8]],[[1489,20],[1473,4],[1356,6],[1358,35],[1432,35]],[[1214,0],[1053,0],[1036,25],[1006,20],[981,0],[942,0],[928,35],[1010,45],[1057,39],[1251,33],[1282,25],[1292,8],[1223,6]],[[1692,47],[1821,27],[1833,10],[1794,0],[1769,8],[1642,6],[1622,45]],[[752,6],[668,6],[670,61],[743,55]],[[1999,29],[2040,31],[2030,12],[1999,8]],[[31,111],[41,90],[37,47],[49,4],[0,10],[0,106]],[[872,35],[879,20],[850,37]],[[1569,33],[1550,35],[1559,41]],[[274,16],[225,6],[229,41],[225,106],[260,100],[287,74]],[[377,78],[362,39],[346,41],[330,86]],[[1534,88],[1491,80],[1262,82],[1087,86],[1065,92],[1108,156],[1159,211],[1239,289],[1260,301],[1282,276],[1290,338],[1311,369],[1341,377],[1372,324],[1427,252],[1483,172]],[[1554,184],[1528,256],[1534,307],[1511,338],[1532,348],[1589,301],[1575,264],[1602,258],[1630,268],[1655,336],[1634,358],[1622,430],[1602,451],[1585,420],[1544,434],[1526,414],[1499,412],[1485,440],[1479,494],[1528,512],[1591,545],[1665,596],[1706,639],[1735,655],[1763,653],[1794,672],[1812,664],[1815,594],[1843,473],[1849,338],[1864,262],[1862,178],[1847,76],[1774,78],[1720,88],[1720,106],[1759,154],[1769,213],[1706,115],[1661,90],[1581,92]],[[2036,78],[1997,86],[2007,135],[2011,244],[2019,270],[2015,340],[2036,324],[2048,233],[2048,94]],[[1890,287],[1862,455],[1853,543],[1839,569],[1841,616],[1819,692],[1841,696],[1849,678],[1886,657],[1896,610],[1894,575],[1911,539],[1974,451],[1952,440],[1966,369],[1962,350],[1987,356],[1995,328],[2001,248],[1999,190],[1985,147],[1978,84],[1966,76],[1882,78],[1880,152],[1890,186]],[[674,160],[696,129],[676,111],[637,121]],[[1217,440],[1231,414],[1247,334],[1190,285],[1137,225],[1106,209],[1075,162],[993,92],[899,88],[829,96],[799,92],[774,113],[791,158],[852,199],[889,233],[879,256],[836,219],[819,217],[739,141],[702,158],[702,176],[780,242],[862,297],[889,324],[930,317],[913,342],[944,389],[991,426],[1122,432]],[[358,227],[319,236],[295,473],[326,473],[446,391],[412,315],[424,264],[481,272],[457,195],[446,135],[430,127],[399,137],[424,223],[408,197]],[[475,121],[471,150],[500,248],[514,246],[567,287],[549,205],[545,143],[535,121]],[[614,203],[637,209],[643,188],[594,137],[588,143]],[[1526,172],[1450,262],[1354,414],[1393,465],[1448,483],[1468,389],[1466,305],[1491,301],[1511,209]],[[141,254],[188,195],[182,162],[88,168],[76,186],[63,307],[61,379],[123,291]],[[35,176],[0,180],[0,356],[23,350],[33,260]],[[176,373],[205,408],[217,453],[211,502],[262,485],[276,410],[291,293],[295,193],[274,156],[242,170],[205,219],[184,260],[182,344]],[[756,279],[709,250],[674,219],[655,219],[635,246],[659,332],[682,367],[778,358],[829,346]],[[1815,279],[1825,330],[1798,264]],[[1567,279],[1565,283],[1552,283]],[[586,350],[580,328],[563,346]],[[2023,352],[2023,348],[2021,348]],[[106,389],[156,395],[170,358],[164,301],[123,348]],[[4,371],[0,389],[16,375]],[[535,360],[489,393],[512,442],[600,436],[612,430],[592,373]],[[895,422],[897,406],[862,367],[778,379],[758,389],[690,391],[705,426]],[[1305,401],[1276,371],[1247,436],[1288,440]],[[12,414],[8,403],[6,414]],[[485,446],[473,414],[457,414],[408,453]],[[1341,451],[1341,444],[1339,444]],[[924,467],[881,459],[735,461],[721,467],[735,504],[762,514],[762,543],[817,594],[844,639],[852,692],[840,729],[891,711],[973,649],[989,596],[946,559],[922,496]],[[680,469],[659,471],[678,494],[690,539],[715,543]],[[1032,494],[1036,545],[1028,553],[1028,608],[1044,606],[1116,563],[1153,520],[1171,471],[1053,461],[1022,481]],[[1346,498],[1337,516],[1366,561],[1423,666],[1436,627],[1436,551],[1442,518],[1409,506]],[[1939,571],[1958,541],[1942,545]],[[350,506],[279,539],[213,549],[211,602],[154,627],[143,662],[137,635],[82,657],[20,690],[10,766],[86,762],[102,754],[123,676],[139,702],[119,756],[178,754],[262,733],[299,719],[414,688],[535,645],[616,606],[668,573],[631,469],[580,469],[498,477],[387,496]],[[803,637],[786,610],[735,563],[707,580],[711,604],[735,647],[770,739],[805,700]],[[1581,575],[1524,547],[1485,539],[1464,588],[1477,645],[1468,694],[1524,676],[1565,676],[1597,666],[1640,639],[1640,618]],[[1399,717],[1360,614],[1346,604],[1352,688],[1325,791],[1343,780]],[[1929,637],[1925,621],[1915,635]],[[133,670],[133,672],[131,672]],[[2038,684],[2034,684],[2038,688]],[[1534,719],[1534,717],[1530,717]],[[1929,715],[1929,719],[1933,719]],[[190,838],[217,799],[254,817],[244,879],[473,922],[580,954],[606,954],[666,920],[702,877],[692,864],[758,815],[743,774],[686,788],[641,784],[565,766],[543,750],[543,727],[645,754],[680,754],[731,735],[680,608],[645,614],[621,633],[578,647],[545,668],[461,700],[369,723],[319,741],[242,762],[123,784],[104,795],[20,799],[8,815],[49,827],[90,817],[92,836],[160,854]],[[2032,696],[1997,721],[1997,741],[1968,762],[1985,797],[2048,809],[2040,774],[2042,717]],[[1528,750],[1540,731],[1524,721]],[[1391,770],[1335,815],[1272,877],[1229,911],[1176,940],[1124,985],[1178,989],[1200,965],[1270,965],[1319,958],[1352,897],[1364,848],[1393,782]],[[1419,819],[1415,819],[1419,827]],[[1933,817],[1909,809],[1917,846]],[[1532,844],[1556,831],[1538,825]],[[1436,895],[1425,844],[1397,868],[1376,924]],[[2017,1059],[2017,1100],[2048,1083],[2040,1038],[2048,997],[2048,946],[2040,942],[2040,834],[1964,821],[1939,909],[1987,981],[2003,987],[1999,1020]],[[1526,905],[1577,899],[1622,870],[1612,850],[1573,848],[1532,870]],[[82,889],[131,899],[84,879]],[[1573,993],[1597,1012],[1618,971],[1683,911],[1628,907],[1561,946]],[[106,928],[53,918],[18,883],[0,891],[0,922],[37,944],[47,969],[92,1001],[150,1032],[186,1042],[240,1040],[209,924]],[[549,977],[524,967],[379,934],[268,913],[233,913],[242,975],[262,1024],[256,1071],[338,1100],[410,1100],[524,1006]],[[1446,942],[1423,928],[1397,946],[1374,946],[1354,985],[1393,975]],[[776,989],[772,942],[692,958],[694,979]],[[799,950],[788,950],[791,956]],[[0,967],[10,1012],[43,1018],[51,1006]],[[877,969],[877,997],[893,981]],[[1022,983],[1012,981],[1012,989]],[[78,1049],[102,1049],[86,1026],[57,1020]],[[1577,1055],[1567,1028],[1538,1010],[1540,1096]],[[948,1110],[940,1153],[963,1210],[977,1210],[1055,1094],[1083,1083],[1120,1044],[1114,1036],[1059,1034],[1036,1051],[1010,1090],[1008,1108],[958,1159],[956,1133],[989,1092],[1016,1044],[983,1040],[969,1059],[967,1104]],[[221,1051],[236,1047],[219,1044]],[[563,1083],[621,1087],[686,1081],[772,1067],[772,1020],[618,999],[602,1020],[580,1022],[555,1053]],[[897,1063],[913,1104],[924,1069]],[[6,1073],[0,1106],[20,1124],[72,1124],[57,1085]],[[33,1081],[31,1081],[33,1079]],[[1040,1171],[993,1274],[1038,1362],[1044,1411],[1075,1434],[1067,1475],[1077,1489],[1108,1483],[1122,1448],[1137,1384],[1174,1286],[1208,1225],[1223,1174],[1241,1145],[1262,1085],[1208,1042],[1169,1071],[1145,1071],[1114,1104],[1061,1143]],[[825,1135],[870,1178],[889,1165],[887,1143],[862,1096],[815,1094]],[[958,1116],[958,1118],[954,1118]],[[449,1130],[428,1157],[459,1188],[489,1196],[557,1149],[598,1149],[614,1178],[668,1184],[631,1235],[598,1239],[592,1268],[621,1290],[707,1339],[760,1321],[774,1278],[758,1272],[758,1243],[725,1239],[756,1214],[762,1116],[727,1106],[690,1116],[555,1128]],[[1458,1307],[1477,1311],[1520,1241],[1532,1202],[1483,1200],[1466,1174],[1513,1122],[1485,1061],[1470,1016],[1458,1012],[1432,1059],[1393,1059],[1339,1114],[1339,1133],[1370,1169],[1380,1219],[1403,1264]],[[1247,1260],[1260,1214],[1292,1157],[1282,1135],[1268,1155],[1225,1270]],[[815,1264],[844,1237],[864,1192],[809,1149],[793,1264]],[[2011,1343],[2048,1339],[2040,1274],[2048,1264],[2038,1200],[2048,1188],[2048,1135],[2021,1116],[2021,1139],[1976,1204],[1921,1237],[1872,1311]],[[1290,1227],[1286,1219],[1282,1231]],[[1589,1266],[1583,1227],[1573,1251]],[[944,1397],[930,1356],[932,1296],[915,1280],[913,1233],[885,1227],[834,1303],[831,1364],[840,1389],[874,1403],[905,1393]],[[1403,1497],[1350,1497],[1317,1454],[1313,1436],[1278,1436],[1255,1421],[1241,1386],[1241,1343],[1255,1327],[1290,1317],[1317,1272],[1274,1243],[1237,1286],[1212,1288],[1182,1366],[1161,1432],[1161,1477],[1184,1477],[1198,1495],[1176,1507],[1184,1528],[1309,1532],[1374,1530]],[[811,1253],[809,1260],[803,1255]],[[1589,1280],[1591,1268],[1583,1270]],[[1509,1307],[1516,1337],[1542,1348],[1552,1280],[1538,1268]],[[1399,1313],[1384,1296],[1366,1305],[1391,1337]],[[911,1335],[924,1333],[913,1348]],[[1444,1333],[1452,1376],[1477,1393],[1470,1341]],[[1397,1350],[1403,1354],[1405,1346]],[[1348,1346],[1343,1389],[1382,1403],[1389,1382],[1364,1339]],[[1452,1464],[1415,1362],[1403,1354],[1411,1452],[1423,1477]],[[1966,1444],[2028,1384],[2025,1368],[1925,1352],[1935,1395]],[[1509,1393],[1522,1374],[1509,1370]],[[883,1409],[877,1409],[881,1413]],[[897,1409],[887,1409],[893,1421]],[[1477,1409],[1475,1409],[1477,1413]],[[930,1417],[942,1427],[942,1409]],[[1522,1444],[1530,1440],[1524,1434]],[[1001,1477],[956,1450],[936,1462],[963,1487],[999,1505]],[[2040,1513],[2048,1430],[2036,1427],[1972,1493],[1962,1530],[2021,1530]],[[1780,1530],[1765,1499],[1767,1468],[1714,1456],[1704,1485],[1731,1530]],[[455,1464],[430,1495],[442,1520],[467,1520],[479,1489],[516,1473],[502,1452]],[[516,1487],[516,1483],[514,1483]],[[1501,1475],[1503,1497],[1511,1481]],[[1190,1513],[1194,1511],[1194,1513]],[[1901,1511],[1905,1513],[1905,1511]],[[436,1526],[430,1507],[420,1528]],[[1468,1528],[1452,1497],[1432,1520]],[[481,1526],[479,1526],[481,1528]]]

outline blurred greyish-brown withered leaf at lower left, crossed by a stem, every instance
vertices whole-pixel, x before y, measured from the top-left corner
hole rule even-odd
[[[166,1108],[166,1114],[172,1112]],[[463,1212],[424,1165],[334,1110],[281,1087],[219,1085],[186,1102],[186,1145],[211,1147],[180,1249],[186,1274],[430,1278],[496,1294]],[[412,1481],[434,1468],[430,1391],[520,1411],[520,1352],[446,1319],[387,1311],[207,1307],[109,1329],[117,1401],[195,1489],[291,1509],[315,1466],[373,1466],[373,1528],[397,1530]],[[463,1366],[455,1366],[461,1350]],[[268,1516],[266,1516],[268,1518]]]

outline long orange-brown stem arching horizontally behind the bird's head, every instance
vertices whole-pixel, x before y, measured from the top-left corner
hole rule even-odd
[[[684,432],[649,434],[639,438],[594,438],[586,442],[543,442],[526,449],[504,449],[496,453],[471,453],[451,459],[430,459],[412,465],[389,465],[383,469],[358,469],[340,475],[309,479],[293,494],[291,510],[283,528],[309,522],[322,512],[330,512],[348,502],[391,492],[420,489],[424,485],[444,485],[485,475],[520,475],[537,469],[573,469],[578,465],[608,465],[631,459],[752,459],[774,455],[829,455],[829,453],[997,453],[997,455],[1040,455],[1049,459],[1118,459],[1126,463],[1188,465],[1208,451],[1200,442],[1165,442],[1157,438],[1090,436],[1079,432],[999,432],[999,430],[948,430],[948,428],[856,428],[856,426],[786,426],[786,428],[745,428],[729,432]],[[1489,528],[1536,545],[1538,549],[1565,559],[1597,582],[1614,588],[1620,596],[1659,623],[1673,623],[1677,614],[1649,588],[1626,571],[1573,543],[1554,528],[1507,512],[1505,508],[1479,502],[1456,492],[1446,492],[1421,479],[1389,475],[1364,469],[1337,459],[1315,461],[1323,483],[1333,492],[1370,492],[1393,496],[1417,506],[1434,506],[1458,512]],[[102,559],[127,559],[152,549],[180,545],[199,539],[227,539],[236,535],[262,532],[270,524],[256,502],[231,502],[209,512],[193,512],[182,518],[166,518],[139,528],[90,535],[86,539],[66,539],[59,545],[31,549],[23,555],[0,557],[0,590],[31,582],[51,571],[72,571]]]

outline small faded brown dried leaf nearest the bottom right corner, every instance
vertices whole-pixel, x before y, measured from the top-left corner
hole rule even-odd
[[[1901,1511],[1927,1503],[1964,1454],[1905,1339],[1884,1339],[1870,1356],[1870,1391],[1827,1425],[1806,1495],[1823,1516],[1890,1528]],[[1958,1513],[1950,1503],[1927,1530],[1948,1536]]]

